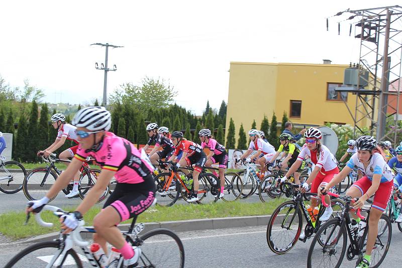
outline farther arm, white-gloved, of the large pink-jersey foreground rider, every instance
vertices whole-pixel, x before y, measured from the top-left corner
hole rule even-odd
[[[73,158],[71,163],[68,165],[67,169],[60,174],[56,182],[52,185],[49,191],[46,193],[45,197],[39,200],[30,201],[28,204],[32,205],[26,209],[26,213],[37,209],[35,212],[40,212],[42,207],[46,205],[51,198],[56,196],[62,189],[64,189],[69,182],[73,179],[74,174],[81,168],[82,162],[78,159]]]

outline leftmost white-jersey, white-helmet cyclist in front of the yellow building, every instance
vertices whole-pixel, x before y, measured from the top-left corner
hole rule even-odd
[[[265,176],[265,162],[272,159],[275,154],[275,148],[260,138],[259,130],[254,128],[250,129],[248,134],[251,140],[250,145],[248,150],[240,157],[240,159],[247,158],[253,151],[257,150],[254,155],[250,156],[250,160],[253,162],[258,160],[258,164],[261,166],[260,179],[262,180]]]

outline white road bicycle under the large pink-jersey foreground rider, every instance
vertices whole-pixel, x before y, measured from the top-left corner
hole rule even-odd
[[[53,211],[53,214],[60,217],[68,212],[58,207],[46,205],[45,210]],[[45,227],[51,227],[52,223],[44,222],[41,213],[35,214],[37,222]],[[28,218],[28,217],[27,217]],[[135,226],[137,217],[133,218],[128,231],[122,231],[126,241],[132,246],[141,248],[141,255],[137,267],[184,267],[184,247],[180,238],[168,229],[154,229],[143,235],[139,233],[145,228],[143,223]],[[89,262],[91,267],[100,268],[100,264],[88,248],[89,243],[83,241],[81,233],[96,233],[93,227],[84,227],[84,221],[79,221],[79,226],[69,234],[62,234],[53,241],[35,243],[17,255],[6,265],[6,268],[32,268],[32,267],[78,267],[84,265],[82,261]],[[83,255],[78,254],[76,247],[79,247]],[[85,265],[87,266],[87,265]],[[123,257],[119,258],[118,264],[113,267],[123,267]]]

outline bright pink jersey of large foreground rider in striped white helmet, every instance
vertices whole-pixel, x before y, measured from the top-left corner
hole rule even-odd
[[[94,158],[102,169],[116,171],[118,183],[142,183],[143,178],[153,171],[143,150],[138,151],[132,143],[112,132],[105,132],[98,148],[93,152],[82,149],[79,145],[74,157],[80,161],[85,161],[88,156]]]

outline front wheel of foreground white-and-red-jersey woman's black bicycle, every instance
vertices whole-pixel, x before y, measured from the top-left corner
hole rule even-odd
[[[279,226],[282,226],[283,223],[286,222],[287,219],[291,219],[294,213],[294,210],[296,209],[297,204],[294,201],[286,201],[282,204],[280,204],[272,213],[271,217],[269,218],[268,221],[268,225],[267,225],[267,231],[266,231],[266,239],[267,239],[267,244],[269,249],[272,250],[272,252],[276,253],[276,254],[283,254],[288,252],[290,249],[292,249],[292,247],[297,243],[298,237],[300,236],[300,233],[302,232],[302,227],[303,227],[303,216],[302,216],[302,211],[298,210],[297,211],[297,215],[294,219],[298,220],[297,224],[297,230],[296,233],[294,235],[294,238],[289,242],[289,244],[285,244],[283,245],[281,248],[279,248],[278,244],[274,241],[274,239],[272,238],[272,235],[274,233],[279,233],[279,232],[285,232],[287,230],[286,227],[282,227],[282,230],[273,230],[274,227],[274,221],[275,219],[279,219],[279,222],[281,222],[281,224]],[[279,213],[281,212],[281,210],[289,208],[287,210],[287,212],[285,213],[285,215],[283,216],[283,219],[280,220],[280,218],[278,217]],[[293,211],[291,211],[291,209],[293,209]],[[294,220],[293,219],[293,220]],[[290,223],[286,223],[286,226],[291,226],[291,224],[293,224],[293,222]],[[289,235],[284,235],[286,237],[289,237]],[[283,236],[281,237],[283,238]],[[281,239],[280,239],[281,241]]]

